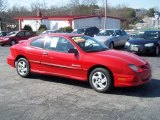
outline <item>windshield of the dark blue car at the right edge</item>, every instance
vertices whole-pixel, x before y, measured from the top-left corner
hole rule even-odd
[[[137,34],[132,38],[139,38],[139,39],[145,39],[145,40],[157,40],[159,38],[159,34],[157,31],[150,31],[150,32]]]

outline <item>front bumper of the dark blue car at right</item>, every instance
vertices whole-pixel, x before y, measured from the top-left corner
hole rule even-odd
[[[128,52],[139,53],[139,54],[152,54],[156,50],[156,46],[145,47],[144,45],[133,45],[125,47]]]

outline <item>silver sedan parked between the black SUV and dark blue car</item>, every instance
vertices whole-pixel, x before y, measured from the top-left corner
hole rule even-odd
[[[94,38],[109,48],[115,48],[124,46],[127,40],[129,40],[129,37],[130,36],[124,30],[107,29],[101,30]]]

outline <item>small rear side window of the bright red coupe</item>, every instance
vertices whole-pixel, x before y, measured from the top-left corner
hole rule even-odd
[[[44,48],[44,39],[43,38],[34,39],[30,45],[33,47]]]

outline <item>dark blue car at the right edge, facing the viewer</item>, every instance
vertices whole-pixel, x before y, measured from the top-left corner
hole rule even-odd
[[[130,52],[157,56],[160,53],[160,31],[144,31],[137,34],[126,42],[125,48]]]

